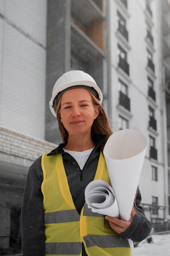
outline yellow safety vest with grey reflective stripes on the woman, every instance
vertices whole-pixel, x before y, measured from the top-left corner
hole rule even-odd
[[[120,239],[104,224],[104,215],[84,204],[81,215],[70,193],[62,154],[42,155],[42,193],[46,256],[81,256],[82,243],[88,256],[131,256],[128,240]],[[94,180],[109,183],[104,156],[100,153]]]

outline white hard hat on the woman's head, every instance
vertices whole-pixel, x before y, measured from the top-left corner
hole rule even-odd
[[[77,87],[84,88],[90,91],[99,101],[99,103],[102,104],[103,95],[93,77],[81,70],[71,70],[60,76],[60,78],[56,81],[53,87],[52,97],[49,104],[50,110],[55,117],[56,112],[54,109],[54,105],[55,107],[57,106],[57,103],[61,98],[62,94],[67,90]],[[54,101],[55,98],[56,102]]]

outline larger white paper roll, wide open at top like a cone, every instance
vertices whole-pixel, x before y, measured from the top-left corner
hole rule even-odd
[[[104,147],[104,158],[122,220],[130,220],[146,146],[144,134],[129,129],[115,132]]]

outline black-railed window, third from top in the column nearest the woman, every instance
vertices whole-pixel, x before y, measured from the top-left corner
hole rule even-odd
[[[119,104],[130,111],[130,99],[128,98],[128,86],[119,79]]]

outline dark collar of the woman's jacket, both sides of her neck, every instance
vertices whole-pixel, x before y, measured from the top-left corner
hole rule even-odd
[[[99,147],[102,142],[106,139],[107,135],[104,134],[93,134],[91,136],[93,142],[95,143],[95,148]],[[48,155],[56,155],[65,153],[63,148],[66,146],[66,143],[61,143],[57,148],[53,149]]]

